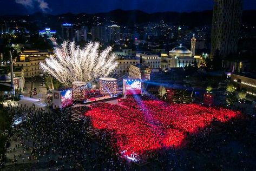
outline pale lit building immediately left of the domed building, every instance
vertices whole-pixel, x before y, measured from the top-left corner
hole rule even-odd
[[[142,64],[150,68],[160,68],[161,57],[158,55],[137,53],[136,56],[141,58]]]

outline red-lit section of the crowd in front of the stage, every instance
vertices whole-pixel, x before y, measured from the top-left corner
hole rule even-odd
[[[85,115],[95,129],[111,134],[120,153],[129,155],[183,147],[186,135],[199,133],[212,121],[226,122],[240,113],[199,104],[142,100],[138,96],[122,99],[119,104],[94,104]]]

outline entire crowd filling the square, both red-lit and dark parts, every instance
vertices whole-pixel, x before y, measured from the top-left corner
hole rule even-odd
[[[18,154],[6,163],[14,166],[28,161],[32,169],[49,170],[255,169],[255,119],[238,111],[141,96],[61,111],[6,111],[14,122],[22,119],[9,133],[15,146],[7,154]],[[81,120],[73,121],[76,111]],[[148,164],[140,167],[133,158]]]

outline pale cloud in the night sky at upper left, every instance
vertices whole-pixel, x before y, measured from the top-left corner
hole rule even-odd
[[[48,3],[44,0],[15,0],[15,2],[25,6],[25,8],[35,8],[37,6],[43,12],[50,10]]]

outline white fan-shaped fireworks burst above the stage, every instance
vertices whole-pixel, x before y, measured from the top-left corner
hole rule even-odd
[[[55,49],[56,57],[45,59],[40,68],[65,86],[74,81],[93,82],[108,76],[117,67],[116,55],[111,47],[100,51],[100,43],[90,42],[80,48],[74,42],[64,42]]]

